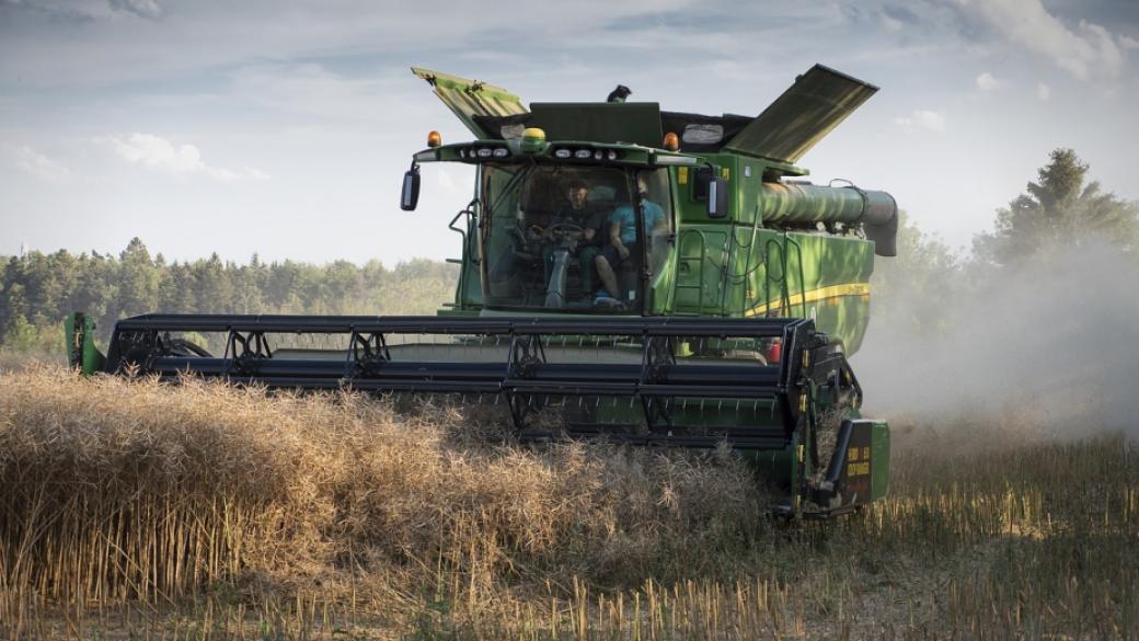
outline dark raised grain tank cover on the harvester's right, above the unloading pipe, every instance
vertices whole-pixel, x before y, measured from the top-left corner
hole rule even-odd
[[[794,164],[876,91],[872,84],[814,65],[724,148]]]

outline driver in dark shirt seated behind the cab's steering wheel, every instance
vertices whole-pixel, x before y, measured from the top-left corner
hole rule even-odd
[[[571,257],[576,257],[577,265],[581,267],[581,286],[584,298],[591,299],[593,295],[593,267],[600,252],[605,216],[589,202],[589,185],[584,181],[571,180],[566,185],[565,194],[566,203],[555,213],[550,226],[543,234],[547,241],[542,248],[546,281],[549,282],[554,271],[557,250],[564,248]]]

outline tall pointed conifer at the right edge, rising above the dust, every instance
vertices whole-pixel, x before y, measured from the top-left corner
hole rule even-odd
[[[974,241],[981,260],[1017,262],[1040,250],[1108,241],[1131,251],[1139,232],[1136,203],[1087,182],[1089,167],[1072,149],[1049,154],[1027,193],[997,211],[995,230]]]

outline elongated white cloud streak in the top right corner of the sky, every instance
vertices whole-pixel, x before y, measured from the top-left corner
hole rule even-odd
[[[1132,39],[1115,36],[1103,26],[1080,21],[1070,29],[1048,13],[1041,0],[952,0],[974,26],[1034,54],[1044,56],[1080,80],[1118,76],[1124,48]]]

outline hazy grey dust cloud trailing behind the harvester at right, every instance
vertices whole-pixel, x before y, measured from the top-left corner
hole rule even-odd
[[[1032,425],[1041,436],[1139,436],[1139,260],[1065,248],[961,283],[876,299],[853,364],[872,415],[919,425]],[[904,300],[899,300],[904,299]],[[919,306],[943,309],[915,327]]]

